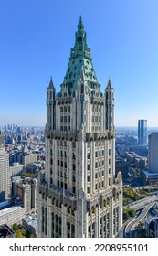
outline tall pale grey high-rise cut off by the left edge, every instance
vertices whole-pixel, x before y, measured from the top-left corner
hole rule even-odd
[[[0,146],[0,202],[8,199],[9,191],[9,155]]]

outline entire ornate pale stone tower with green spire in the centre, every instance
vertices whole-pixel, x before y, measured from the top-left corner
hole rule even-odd
[[[115,176],[114,95],[101,93],[79,19],[68,69],[47,88],[46,170],[38,178],[37,237],[121,235],[122,180]]]

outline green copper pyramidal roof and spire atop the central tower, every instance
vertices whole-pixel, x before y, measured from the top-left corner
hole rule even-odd
[[[84,24],[80,16],[78,31],[75,33],[75,45],[70,50],[68,69],[64,77],[64,81],[61,84],[61,90],[65,85],[71,84],[72,86],[70,91],[75,92],[82,69],[85,80],[88,81],[88,85],[92,84],[91,88],[93,90],[95,87],[100,88],[93,68],[90,48],[88,48],[87,45],[87,35],[84,30]],[[89,90],[91,91],[90,88]]]

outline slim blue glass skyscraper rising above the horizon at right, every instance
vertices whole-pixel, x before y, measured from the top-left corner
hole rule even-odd
[[[147,144],[147,120],[138,120],[138,144]]]

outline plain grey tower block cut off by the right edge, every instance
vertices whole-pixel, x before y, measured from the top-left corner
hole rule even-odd
[[[158,173],[158,133],[148,136],[148,164],[149,171]]]

